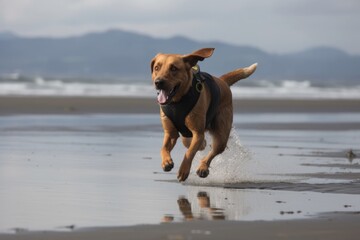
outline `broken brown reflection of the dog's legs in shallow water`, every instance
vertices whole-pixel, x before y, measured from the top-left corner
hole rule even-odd
[[[183,221],[191,220],[225,220],[224,209],[211,206],[210,197],[207,192],[200,191],[197,194],[197,204],[200,207],[199,210],[194,211],[191,207],[189,200],[180,196],[177,200],[179,210],[183,216]],[[163,222],[172,222],[174,217],[172,215],[165,215]]]

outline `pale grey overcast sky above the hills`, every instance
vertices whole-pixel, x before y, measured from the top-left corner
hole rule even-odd
[[[65,37],[108,29],[279,54],[318,46],[360,54],[360,1],[0,0],[0,32]]]

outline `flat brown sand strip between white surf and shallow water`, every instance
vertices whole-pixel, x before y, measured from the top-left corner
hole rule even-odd
[[[234,99],[234,113],[360,112],[360,99]],[[154,98],[0,96],[0,115],[158,113]]]

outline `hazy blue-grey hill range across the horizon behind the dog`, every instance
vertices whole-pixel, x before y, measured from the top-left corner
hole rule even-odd
[[[315,84],[354,84],[360,80],[360,56],[319,47],[291,54],[270,54],[258,48],[222,42],[198,42],[184,37],[153,38],[132,32],[110,30],[67,38],[24,38],[0,34],[0,74],[63,77],[150,77],[149,63],[158,52],[189,53],[215,47],[201,63],[215,75],[259,63],[254,75],[268,80],[311,80]]]

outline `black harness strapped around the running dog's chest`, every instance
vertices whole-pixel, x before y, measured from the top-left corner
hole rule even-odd
[[[161,105],[162,111],[172,121],[183,137],[192,137],[192,132],[185,125],[185,118],[197,103],[203,89],[203,84],[206,84],[211,94],[210,106],[206,112],[206,129],[211,127],[220,102],[220,89],[211,75],[200,72],[198,67],[195,71],[192,86],[181,100],[179,102],[170,102],[167,105]]]

